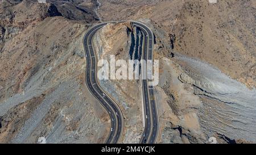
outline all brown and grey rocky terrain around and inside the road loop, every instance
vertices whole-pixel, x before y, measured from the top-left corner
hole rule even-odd
[[[28,9],[29,8],[29,9]],[[253,0],[0,2],[0,143],[103,143],[109,116],[85,86],[82,37],[94,23],[139,20],[154,32],[158,143],[255,143]],[[128,60],[131,23],[96,33],[98,58]],[[121,143],[143,132],[139,81],[100,81],[125,118]]]

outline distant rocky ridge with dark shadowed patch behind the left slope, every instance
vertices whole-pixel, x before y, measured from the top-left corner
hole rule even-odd
[[[91,23],[98,20],[94,12],[96,3],[77,1],[1,1],[0,5],[0,49],[3,42],[15,35],[28,24],[38,23],[47,17],[64,16],[67,19]],[[29,9],[28,9],[29,8]]]

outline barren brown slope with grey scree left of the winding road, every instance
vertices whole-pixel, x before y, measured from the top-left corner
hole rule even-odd
[[[49,3],[0,5],[0,143],[103,143],[109,116],[85,86],[88,26]]]

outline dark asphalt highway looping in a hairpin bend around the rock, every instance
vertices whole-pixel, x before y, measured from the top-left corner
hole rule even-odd
[[[120,21],[125,22],[125,21]],[[105,26],[106,22],[97,24],[90,28],[84,36],[84,52],[86,57],[86,86],[90,93],[100,102],[100,104],[108,111],[111,119],[111,129],[105,143],[118,143],[123,132],[123,115],[118,104],[106,93],[97,81],[97,56],[93,49],[92,38],[101,27]],[[135,27],[139,27],[143,33],[142,59],[153,59],[154,35],[152,31],[144,24],[133,22]],[[143,69],[143,68],[142,68]],[[144,132],[141,138],[141,143],[155,143],[159,132],[159,117],[157,104],[155,99],[154,86],[148,86],[148,79],[142,79],[142,94],[144,106]]]

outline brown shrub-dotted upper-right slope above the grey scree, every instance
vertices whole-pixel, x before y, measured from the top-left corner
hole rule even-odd
[[[159,45],[160,48],[170,48],[170,36],[175,35],[174,51],[207,61],[228,76],[255,87],[256,21],[253,0],[217,3],[207,0],[100,2],[98,12],[102,20],[141,19],[148,22],[163,44]],[[118,11],[118,14],[111,11]],[[164,56],[168,56],[169,52],[162,51]]]

